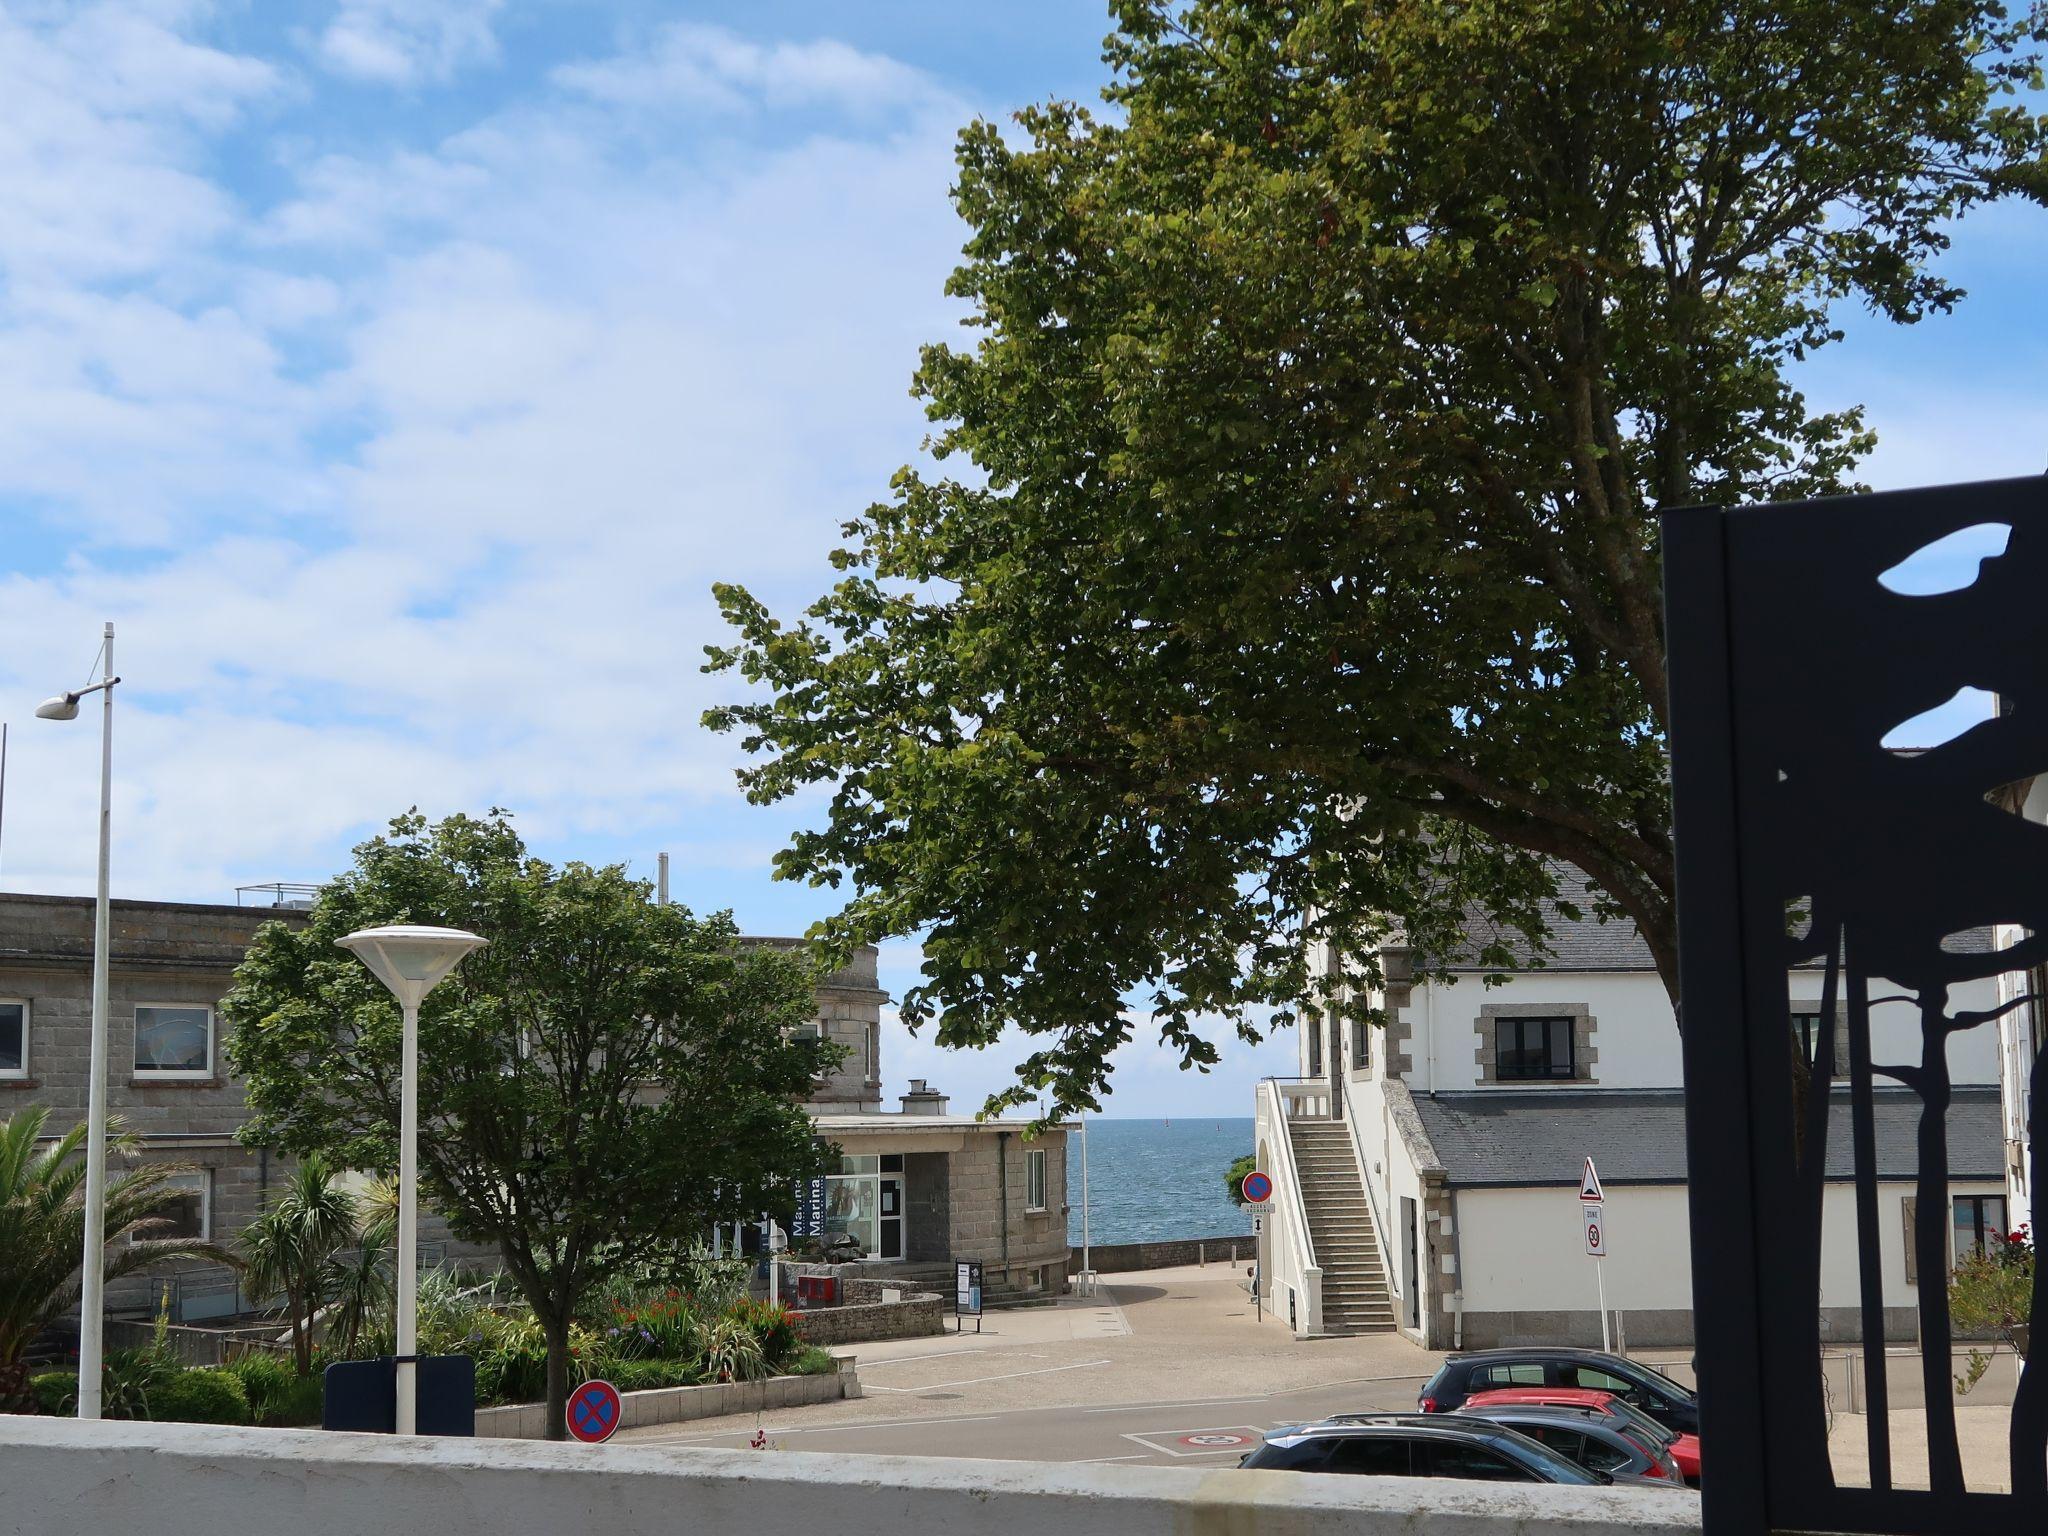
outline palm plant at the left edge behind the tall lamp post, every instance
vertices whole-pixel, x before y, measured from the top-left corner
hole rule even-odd
[[[72,1126],[45,1147],[47,1120],[43,1106],[0,1120],[0,1409],[23,1399],[29,1376],[23,1354],[78,1300],[84,1284],[86,1124]],[[106,1145],[109,1151],[133,1151],[137,1143],[109,1124]],[[106,1182],[106,1280],[162,1260],[236,1264],[213,1243],[143,1237],[180,1198],[170,1188],[170,1178],[180,1171],[178,1163],[147,1163]]]

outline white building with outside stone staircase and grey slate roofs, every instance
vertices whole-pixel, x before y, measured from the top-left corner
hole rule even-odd
[[[1583,883],[1567,874],[1561,885],[1589,909]],[[1604,1280],[1630,1343],[1692,1339],[1686,1106],[1671,1001],[1634,924],[1563,915],[1552,924],[1548,963],[1495,987],[1468,965],[1452,967],[1454,985],[1411,983],[1413,956],[1386,950],[1386,993],[1372,1001],[1389,1024],[1305,1022],[1300,1077],[1260,1085],[1260,1165],[1276,1184],[1262,1274],[1272,1309],[1292,1317],[1298,1333],[1378,1325],[1430,1348],[1597,1346]],[[1991,944],[1989,932],[1982,942]],[[1528,958],[1524,944],[1513,948]],[[1790,977],[1792,997],[1812,1006],[1810,1016],[1794,1010],[1808,1047],[1821,981],[1819,969]],[[1987,1008],[1997,991],[1997,981],[1956,987],[1950,1010]],[[1917,1061],[1913,1010],[1880,1001],[1874,993],[1874,1059]],[[1845,1032],[1839,1006],[1837,1028]],[[1841,1036],[1835,1059],[1847,1061]],[[1989,1026],[1952,1036],[1958,1243],[1982,1241],[2007,1223],[1999,1063],[2001,1038]],[[1905,1241],[1917,1122],[1911,1092],[1876,1090],[1890,1337],[1913,1337],[1917,1323],[1919,1276]],[[1587,1157],[1606,1186],[1606,1260],[1585,1253],[1579,1178]],[[1853,1339],[1855,1206],[1843,1090],[1829,1118],[1827,1178],[1823,1335]]]

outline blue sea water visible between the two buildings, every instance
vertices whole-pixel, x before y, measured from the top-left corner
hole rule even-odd
[[[1251,1151],[1241,1120],[1090,1120],[1087,1235],[1096,1243],[1249,1235],[1251,1219],[1223,1190]],[[1081,1241],[1081,1137],[1067,1133],[1069,1239]]]

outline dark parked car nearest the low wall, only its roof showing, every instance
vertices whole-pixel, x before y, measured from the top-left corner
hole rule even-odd
[[[1489,1419],[1423,1413],[1358,1413],[1274,1430],[1239,1466],[1358,1477],[1460,1477],[1487,1483],[1647,1483],[1593,1473],[1569,1456]],[[1663,1483],[1663,1487],[1671,1487]]]

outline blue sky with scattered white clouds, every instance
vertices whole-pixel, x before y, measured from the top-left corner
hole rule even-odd
[[[553,856],[674,856],[801,932],[793,817],[698,713],[713,580],[793,608],[913,459],[958,319],[952,135],[1090,96],[1100,0],[0,0],[0,887],[86,891],[94,731],[31,719],[119,627],[117,891],[319,879],[393,811],[508,805]],[[1972,299],[1851,322],[1880,485],[2048,465],[2048,215]],[[901,989],[915,948],[885,952]],[[958,1098],[1004,1049],[891,1040]],[[1112,1114],[1245,1114],[1135,1044]]]

